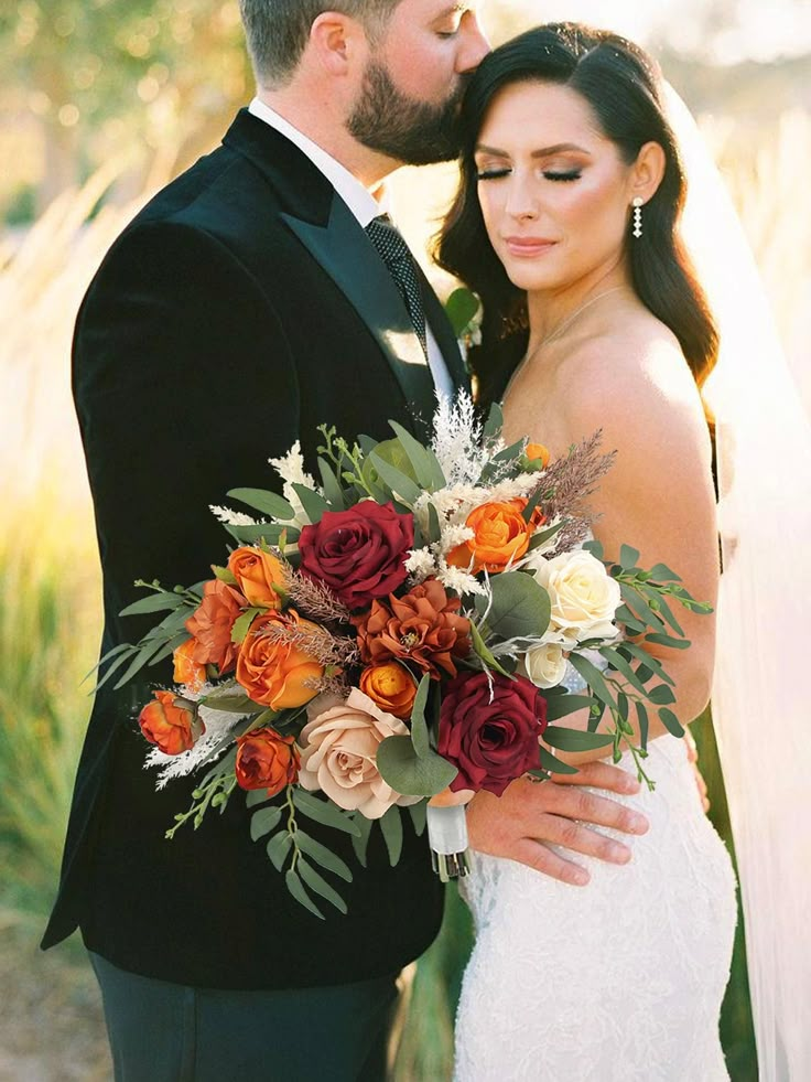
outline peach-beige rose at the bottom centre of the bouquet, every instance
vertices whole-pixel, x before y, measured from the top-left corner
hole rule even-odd
[[[358,811],[367,819],[379,819],[392,804],[417,804],[419,796],[396,793],[377,769],[377,749],[386,737],[408,732],[399,718],[353,688],[345,703],[314,717],[301,730],[299,781],[304,789],[320,789],[338,807]]]

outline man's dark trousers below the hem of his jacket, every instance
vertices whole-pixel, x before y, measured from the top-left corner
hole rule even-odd
[[[220,992],[90,953],[116,1082],[383,1082],[397,974],[326,988]]]

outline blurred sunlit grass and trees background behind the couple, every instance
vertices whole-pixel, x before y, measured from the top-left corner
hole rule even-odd
[[[580,19],[657,55],[727,182],[811,405],[811,2],[486,0],[482,9],[495,43],[542,21]],[[79,683],[100,630],[69,397],[73,322],[122,225],[216,146],[251,93],[236,0],[0,6],[0,1082],[110,1076],[79,945],[45,956],[35,946],[89,710]],[[398,219],[421,257],[453,183],[450,168],[404,170],[392,181]],[[711,727],[696,732],[724,833]],[[468,943],[452,899],[443,936],[412,982],[400,1082],[448,1078]],[[735,1082],[756,1079],[740,953],[724,1041]]]

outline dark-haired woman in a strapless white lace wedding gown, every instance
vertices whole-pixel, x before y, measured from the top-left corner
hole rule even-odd
[[[615,34],[542,26],[482,63],[463,127],[462,184],[439,254],[483,300],[472,358],[480,398],[502,398],[508,441],[529,436],[553,456],[602,429],[604,449],[617,451],[593,505],[606,555],[628,543],[642,566],[674,567],[714,602],[699,388],[718,339],[679,240],[684,175],[655,63]],[[670,654],[673,709],[686,724],[709,699],[714,618],[685,612],[683,624],[690,650],[650,651]],[[732,865],[685,742],[655,720],[649,738],[656,791],[626,802],[650,831],[630,865],[590,861],[583,888],[489,856],[499,802],[486,792],[472,802],[477,940],[458,1008],[458,1082],[728,1078],[718,1014]],[[506,799],[520,801],[527,784]]]

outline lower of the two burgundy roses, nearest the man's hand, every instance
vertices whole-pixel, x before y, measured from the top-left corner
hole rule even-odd
[[[547,700],[523,676],[461,673],[448,681],[440,710],[440,754],[458,767],[451,790],[486,789],[500,796],[511,781],[539,765],[538,739]]]

